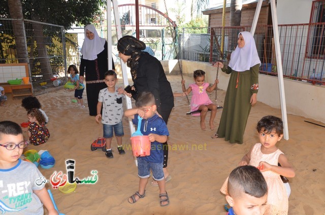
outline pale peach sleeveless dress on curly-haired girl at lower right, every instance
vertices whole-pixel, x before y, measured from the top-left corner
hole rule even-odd
[[[283,154],[279,149],[271,154],[263,154],[261,151],[262,144],[255,144],[250,154],[250,161],[248,165],[257,167],[259,162],[265,161],[271,165],[278,165],[278,159]],[[268,184],[268,204],[272,205],[272,212],[266,212],[265,214],[288,214],[288,196],[285,191],[285,187],[278,173],[272,171],[262,172],[266,183]],[[221,193],[228,194],[228,178],[223,183]],[[276,211],[276,212],[274,212]]]

